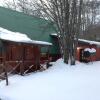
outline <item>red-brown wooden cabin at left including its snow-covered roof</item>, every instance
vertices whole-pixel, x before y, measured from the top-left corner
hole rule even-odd
[[[31,40],[25,34],[21,37],[23,36],[21,33],[2,30],[0,31],[0,65],[5,66],[7,72],[24,75],[30,71],[43,70],[44,66],[48,67],[51,43]],[[43,48],[47,50],[45,56],[42,52]],[[0,67],[0,74],[2,72]]]

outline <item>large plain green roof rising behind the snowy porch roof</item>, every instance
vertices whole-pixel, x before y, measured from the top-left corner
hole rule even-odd
[[[52,43],[50,34],[55,33],[53,25],[51,21],[0,7],[0,27],[27,34],[33,40]],[[57,53],[54,48],[52,49],[52,53]]]

